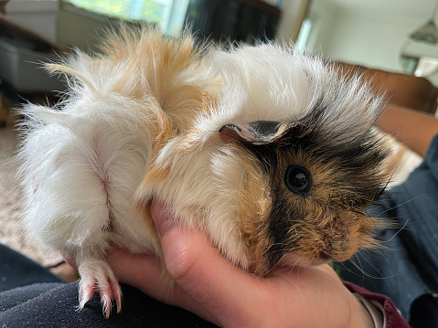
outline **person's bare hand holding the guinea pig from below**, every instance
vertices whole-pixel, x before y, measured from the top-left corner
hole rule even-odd
[[[260,278],[223,258],[198,229],[172,225],[162,204],[154,203],[151,212],[173,290],[164,288],[163,267],[155,256],[115,250],[108,261],[120,281],[156,300],[223,327],[373,326],[329,266],[278,267]]]

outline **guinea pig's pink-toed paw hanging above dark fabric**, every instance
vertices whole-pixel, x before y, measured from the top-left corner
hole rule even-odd
[[[115,302],[117,313],[122,310],[122,289],[108,263],[101,259],[86,259],[80,263],[78,270],[80,310],[95,291],[101,295],[102,311],[107,318],[110,317],[112,301]]]

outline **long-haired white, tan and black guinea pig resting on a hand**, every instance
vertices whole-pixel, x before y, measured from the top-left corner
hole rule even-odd
[[[359,79],[275,44],[196,47],[186,33],[122,27],[101,53],[49,65],[69,94],[23,109],[26,227],[76,258],[80,307],[121,290],[105,253],[161,250],[152,199],[263,276],[372,247],[364,209],[386,177],[382,101]]]

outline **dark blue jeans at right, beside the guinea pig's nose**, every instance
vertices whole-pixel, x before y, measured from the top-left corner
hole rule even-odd
[[[384,249],[337,263],[342,278],[390,296],[413,327],[438,327],[438,135],[422,164],[369,215],[397,227],[379,231]]]

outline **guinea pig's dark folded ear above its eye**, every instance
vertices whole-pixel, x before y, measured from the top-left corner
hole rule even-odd
[[[228,123],[219,129],[223,142],[271,143],[278,137],[280,122],[254,121]]]

